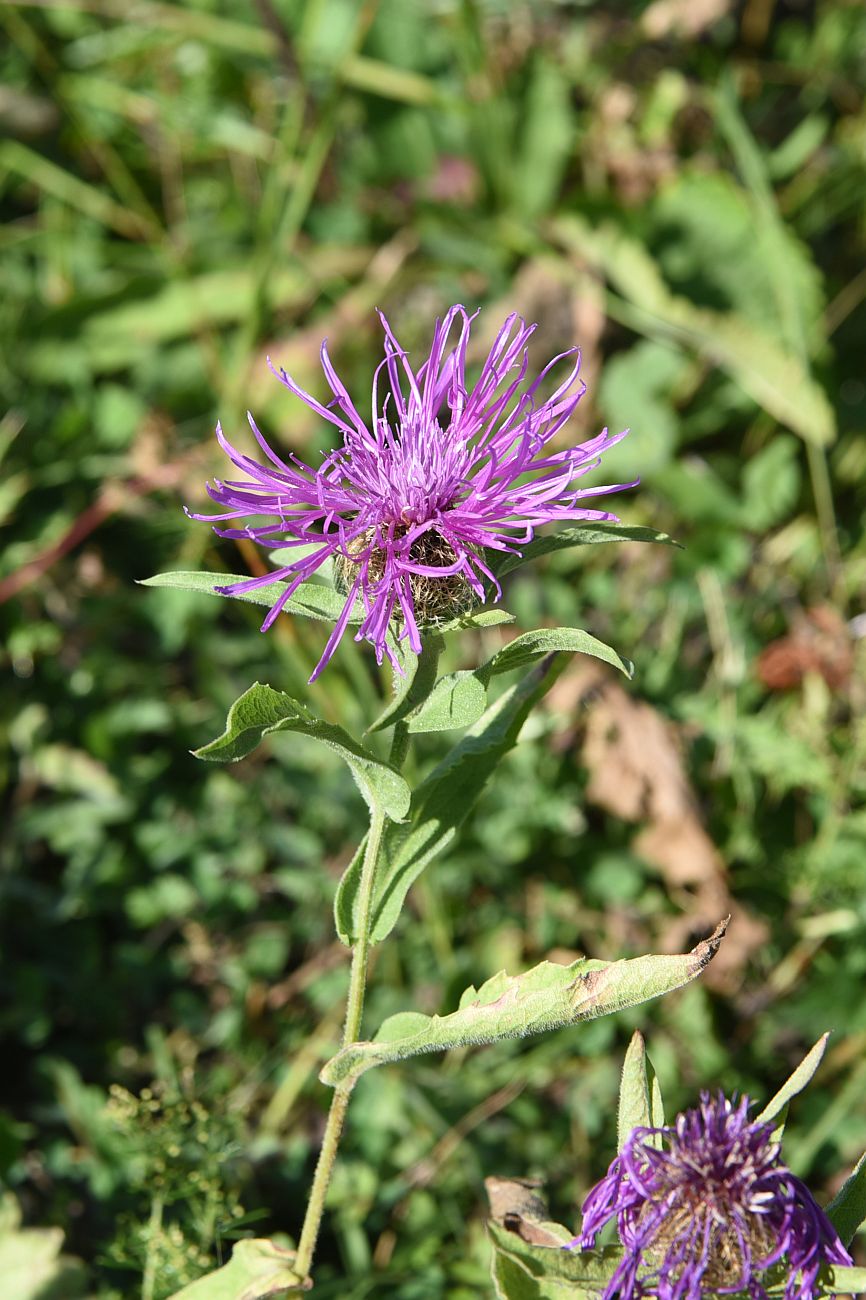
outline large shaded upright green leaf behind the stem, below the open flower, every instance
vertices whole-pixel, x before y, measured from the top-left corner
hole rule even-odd
[[[549,655],[490,705],[413,792],[408,826],[386,829],[373,898],[373,942],[390,935],[413,881],[454,842],[488,777],[514,748],[531,710],[564,663],[563,656]],[[355,941],[360,866],[355,861],[343,874],[334,901],[337,933],[345,944]]]

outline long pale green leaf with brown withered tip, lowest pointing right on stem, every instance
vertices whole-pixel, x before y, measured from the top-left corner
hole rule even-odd
[[[447,1052],[577,1024],[637,1006],[700,975],[718,952],[727,920],[690,953],[620,962],[580,958],[570,966],[541,962],[525,975],[501,971],[480,989],[468,988],[450,1015],[391,1015],[372,1043],[351,1043],[321,1071],[332,1087],[352,1083],[377,1065],[423,1052]]]

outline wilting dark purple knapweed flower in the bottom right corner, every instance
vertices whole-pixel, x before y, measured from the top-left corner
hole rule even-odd
[[[616,1218],[625,1253],[603,1300],[765,1297],[759,1275],[774,1268],[785,1300],[813,1300],[823,1264],[850,1264],[772,1134],[772,1124],[749,1119],[748,1097],[706,1092],[675,1124],[635,1128],[586,1197],[583,1232],[570,1243],[593,1245]]]

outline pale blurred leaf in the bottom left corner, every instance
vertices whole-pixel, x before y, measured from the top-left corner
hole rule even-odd
[[[59,1227],[21,1227],[13,1196],[0,1202],[0,1278],[9,1300],[74,1300],[87,1294],[87,1270],[81,1260],[62,1254]]]

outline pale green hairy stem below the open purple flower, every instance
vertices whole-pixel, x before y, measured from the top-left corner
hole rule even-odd
[[[371,819],[367,848],[364,850],[364,863],[361,866],[361,879],[358,890],[358,940],[352,952],[352,968],[348,976],[348,997],[346,1001],[346,1023],[343,1026],[342,1046],[347,1046],[358,1039],[364,1014],[364,993],[367,989],[367,967],[369,963],[369,931],[371,913],[373,907],[373,884],[376,883],[376,866],[378,850],[382,844],[385,829],[385,815],[376,810]],[[325,1197],[330,1184],[330,1175],[337,1158],[337,1148],[343,1131],[346,1109],[351,1096],[352,1084],[334,1089],[334,1096],[328,1113],[325,1136],[322,1138],[316,1173],[309,1190],[307,1213],[304,1214],[298,1253],[294,1269],[307,1278],[316,1249],[316,1239],[321,1225],[321,1216],[325,1209]]]

